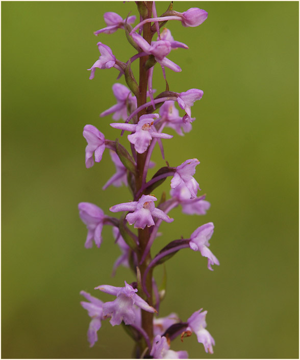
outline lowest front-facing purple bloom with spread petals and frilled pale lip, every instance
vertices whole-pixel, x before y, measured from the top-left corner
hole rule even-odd
[[[122,321],[126,325],[133,324],[135,322],[134,306],[148,312],[156,312],[154,307],[148,305],[145,300],[136,294],[137,289],[134,289],[126,281],[124,287],[100,285],[95,289],[117,297],[114,301],[103,304],[103,316],[111,317],[110,323],[112,326],[120,325]]]

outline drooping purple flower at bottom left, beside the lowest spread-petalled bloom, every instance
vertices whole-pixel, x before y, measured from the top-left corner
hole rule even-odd
[[[89,303],[81,301],[80,304],[88,311],[89,317],[92,318],[87,332],[88,342],[90,343],[90,347],[92,347],[98,340],[97,331],[101,328],[101,321],[104,320],[102,309],[103,301],[94,298],[85,291],[80,291],[80,295],[89,301]]]

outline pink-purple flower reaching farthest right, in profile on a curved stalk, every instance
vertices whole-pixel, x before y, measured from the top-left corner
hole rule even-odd
[[[211,265],[220,265],[219,260],[214,256],[214,254],[208,249],[210,246],[209,240],[212,237],[214,232],[214,224],[209,222],[197,228],[191,235],[190,248],[194,251],[201,252],[202,256],[208,258],[207,267],[213,271]]]

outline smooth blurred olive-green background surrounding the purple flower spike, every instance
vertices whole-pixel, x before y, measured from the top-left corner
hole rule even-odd
[[[167,5],[159,2],[158,13]],[[209,16],[197,28],[169,21],[190,49],[169,55],[182,72],[167,70],[167,79],[173,91],[201,88],[204,97],[192,108],[193,130],[164,144],[171,166],[201,161],[196,179],[212,206],[204,217],[173,210],[175,221],[163,224],[154,247],[213,221],[220,266],[210,272],[188,250],[173,257],[160,315],[175,311],[184,320],[208,310],[213,355],[195,336],[172,345],[190,358],[298,358],[298,2],[174,2],[177,11],[190,7]],[[84,164],[85,124],[119,137],[109,117],[98,117],[115,103],[117,72],[96,70],[91,81],[86,71],[99,56],[96,43],[123,61],[134,54],[121,30],[93,35],[106,11],[137,13],[134,2],[2,2],[5,358],[131,356],[132,340],[108,321],[89,348],[79,295],[84,289],[108,301],[93,288],[134,280],[126,268],[111,278],[119,250],[110,227],[101,249],[84,248],[77,210],[90,201],[109,213],[131,199],[125,188],[101,189],[114,173],[108,151],[101,164]],[[163,86],[157,69],[154,88]],[[164,165],[159,151],[154,160]],[[161,278],[162,268],[155,274]]]

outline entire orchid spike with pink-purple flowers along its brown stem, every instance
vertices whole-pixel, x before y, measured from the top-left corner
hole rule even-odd
[[[206,257],[208,268],[212,271],[212,265],[219,265],[218,259],[209,249],[214,224],[202,224],[188,238],[172,240],[155,256],[151,255],[151,247],[160,235],[158,231],[162,221],[176,223],[176,219],[168,215],[172,209],[181,206],[184,214],[205,215],[210,203],[205,199],[206,195],[198,195],[201,189],[194,178],[196,166],[200,164],[197,159],[188,159],[176,167],[171,167],[166,162],[167,166],[158,169],[148,181],[147,175],[148,169],[154,166],[151,156],[156,143],[164,159],[162,139],[173,138],[173,135],[163,132],[164,127],[171,128],[180,136],[190,132],[195,120],[191,115],[191,107],[196,100],[203,97],[203,91],[197,88],[180,93],[169,90],[165,68],[174,72],[181,71],[180,66],[169,59],[171,52],[178,48],[188,49],[188,46],[174,40],[168,29],[163,28],[161,31],[160,28],[169,20],[181,21],[184,27],[199,26],[207,19],[207,12],[191,8],[180,13],[172,9],[171,3],[158,17],[155,2],[136,3],[140,22],[134,28],[132,24],[136,16],[123,18],[114,12],[107,12],[104,14],[106,27],[94,32],[97,36],[102,33],[113,34],[121,29],[126,33],[131,46],[136,49],[136,53],[128,61],[123,62],[115,57],[106,44],[98,42],[101,56],[88,69],[91,71],[90,79],[94,78],[96,68],[115,68],[119,72],[118,79],[124,78],[127,86],[119,82],[112,86],[116,104],[102,111],[100,116],[111,116],[114,121],[119,121],[110,123],[110,126],[121,130],[121,135],[124,131],[130,132],[127,139],[131,153],[118,140],[106,139],[93,125],[86,125],[83,130],[83,136],[87,141],[86,167],[90,168],[95,162],[99,163],[105,148],[108,148],[116,172],[106,179],[103,190],[109,186],[124,185],[130,189],[133,198],[131,201],[110,207],[109,214],[121,213],[119,218],[105,215],[101,208],[90,202],[80,202],[78,206],[80,218],[87,227],[85,247],[92,247],[93,242],[100,247],[103,226],[112,226],[114,242],[121,252],[113,264],[113,275],[122,265],[132,269],[134,279],[131,283],[125,281],[123,287],[95,287],[114,296],[113,301],[103,302],[88,292],[81,291],[80,294],[87,300],[82,301],[81,305],[91,318],[88,328],[90,346],[98,340],[97,332],[102,321],[109,319],[112,326],[123,323],[128,327],[136,341],[137,358],[188,358],[185,350],[171,350],[171,341],[179,335],[183,340],[194,333],[197,341],[204,345],[205,351],[213,353],[215,341],[206,329],[207,311],[197,310],[186,321],[182,321],[174,312],[166,317],[157,317],[165,288],[158,289],[153,269],[178,251],[189,248]],[[152,26],[151,22],[154,23]],[[139,84],[131,69],[132,62],[137,59],[140,59]],[[157,63],[162,69],[167,88],[154,98],[153,71]],[[147,97],[150,101],[146,100]],[[184,114],[180,115],[180,109],[184,110]],[[157,194],[157,188],[167,177],[171,177],[170,198],[166,198],[165,194]]]

